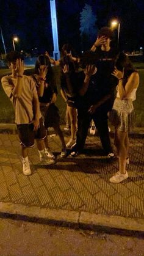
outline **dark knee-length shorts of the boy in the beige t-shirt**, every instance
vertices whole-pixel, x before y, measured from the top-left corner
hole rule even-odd
[[[40,127],[37,131],[34,131],[33,123],[17,125],[17,129],[20,144],[24,145],[24,147],[33,147],[35,139],[45,139],[47,135],[42,118],[40,119]]]

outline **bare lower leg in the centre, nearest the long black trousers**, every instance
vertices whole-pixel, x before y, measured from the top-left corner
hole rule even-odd
[[[76,108],[72,108],[67,106],[68,114],[70,116],[71,122],[71,139],[76,139],[76,128],[77,128],[77,110]]]

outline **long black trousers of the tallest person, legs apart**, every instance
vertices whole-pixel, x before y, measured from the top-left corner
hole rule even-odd
[[[84,148],[88,128],[90,126],[90,122],[93,119],[96,128],[98,129],[104,153],[107,155],[108,153],[112,152],[112,146],[110,144],[109,138],[109,128],[107,123],[107,111],[96,111],[95,114],[91,115],[87,111],[84,112],[81,111],[81,109],[77,109],[77,114],[78,125],[76,145],[74,146],[74,150],[81,151]]]

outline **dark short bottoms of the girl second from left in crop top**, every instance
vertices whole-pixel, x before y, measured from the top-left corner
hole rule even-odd
[[[45,128],[56,127],[60,123],[59,109],[55,104],[49,106],[40,106],[40,111],[43,116]]]

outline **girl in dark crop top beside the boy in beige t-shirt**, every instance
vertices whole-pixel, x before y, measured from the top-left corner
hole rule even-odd
[[[53,127],[62,143],[61,157],[67,155],[65,139],[60,129],[59,109],[54,104],[57,100],[57,87],[54,81],[54,74],[51,63],[46,55],[41,54],[35,63],[35,75],[32,76],[37,87],[38,98],[40,101],[40,111],[43,115],[46,130]],[[54,158],[49,151],[48,137],[45,139],[45,150],[49,157]]]

